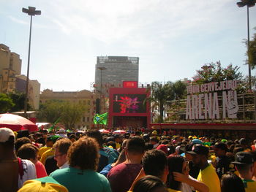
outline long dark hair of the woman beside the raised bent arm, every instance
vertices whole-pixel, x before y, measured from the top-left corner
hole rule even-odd
[[[174,190],[180,190],[181,182],[174,180],[173,172],[182,173],[183,164],[185,158],[181,155],[173,155],[167,158],[169,174],[167,176],[167,188],[172,188]]]

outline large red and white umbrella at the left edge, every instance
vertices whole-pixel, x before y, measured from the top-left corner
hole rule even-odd
[[[32,121],[21,117],[20,115],[13,115],[10,113],[0,114],[0,127],[7,127],[12,131],[29,130],[38,131],[38,127]]]

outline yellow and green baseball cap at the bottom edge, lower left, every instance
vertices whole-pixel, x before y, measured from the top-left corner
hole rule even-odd
[[[67,188],[59,184],[53,177],[42,177],[35,180],[27,180],[18,192],[68,192]]]

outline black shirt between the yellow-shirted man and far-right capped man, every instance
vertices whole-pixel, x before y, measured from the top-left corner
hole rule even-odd
[[[226,155],[217,157],[215,169],[220,179],[222,174],[230,171],[230,159]]]

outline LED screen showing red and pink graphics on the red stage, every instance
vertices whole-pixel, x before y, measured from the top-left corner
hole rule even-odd
[[[114,94],[113,112],[118,113],[144,113],[146,105],[143,102],[146,94]]]

